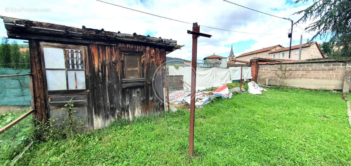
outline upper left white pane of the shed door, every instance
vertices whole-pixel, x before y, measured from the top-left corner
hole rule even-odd
[[[64,49],[43,47],[45,68],[65,68]]]

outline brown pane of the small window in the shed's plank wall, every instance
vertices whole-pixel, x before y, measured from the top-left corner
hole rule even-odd
[[[139,55],[124,55],[125,79],[141,78]]]

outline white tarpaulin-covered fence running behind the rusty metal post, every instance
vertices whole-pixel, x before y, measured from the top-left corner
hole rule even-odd
[[[241,67],[229,68],[196,68],[196,89],[206,89],[231,83],[232,80],[240,80]],[[174,66],[168,66],[169,75],[184,75],[184,81],[191,83],[191,67],[180,66],[176,69]],[[243,67],[243,79],[252,79],[251,67]],[[189,87],[184,83],[184,89]]]

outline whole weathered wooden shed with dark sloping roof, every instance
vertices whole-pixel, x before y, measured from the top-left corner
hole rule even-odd
[[[162,64],[167,53],[181,47],[177,41],[1,18],[9,38],[29,42],[39,120],[64,119],[66,112],[61,108],[72,97],[75,115],[89,117],[85,126],[94,129],[114,120],[160,113],[167,107]]]

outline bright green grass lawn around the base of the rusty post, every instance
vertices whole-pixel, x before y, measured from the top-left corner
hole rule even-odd
[[[115,122],[77,137],[36,143],[17,165],[351,165],[351,130],[340,93],[269,89],[195,112]]]

